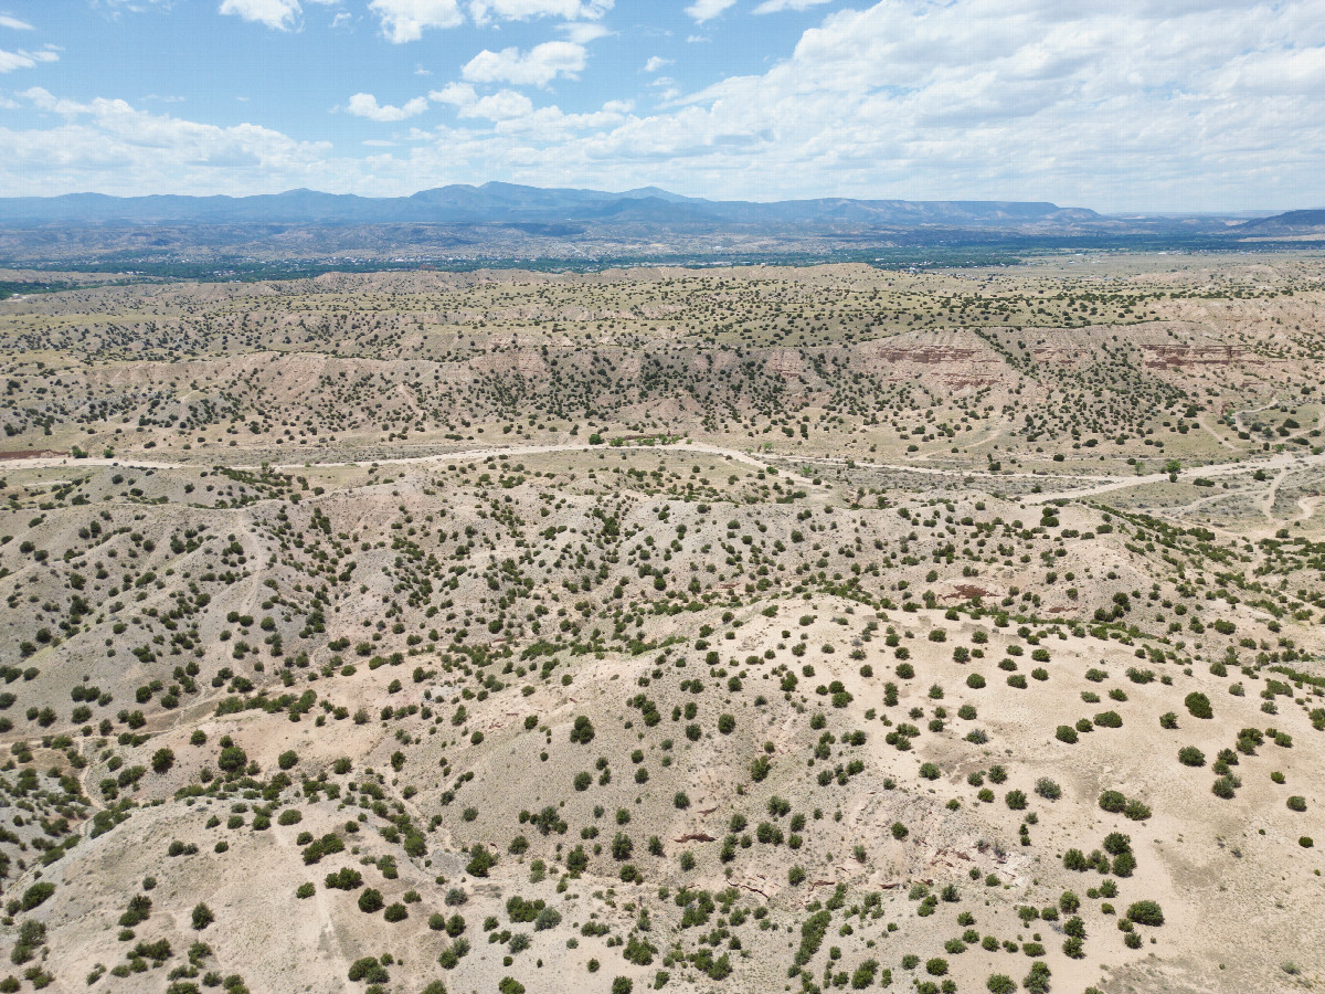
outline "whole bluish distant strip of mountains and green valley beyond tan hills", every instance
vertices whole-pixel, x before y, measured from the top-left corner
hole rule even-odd
[[[1049,248],[1211,248],[1325,236],[1325,211],[1104,215],[1016,200],[705,200],[511,183],[364,197],[69,193],[0,199],[0,264],[142,269],[236,258],[469,265],[546,260],[988,260]],[[975,256],[971,256],[971,252]],[[965,253],[965,254],[963,254]],[[170,272],[175,272],[171,269]],[[183,272],[183,270],[180,270]],[[192,270],[189,270],[192,272]],[[211,270],[207,270],[211,272]]]

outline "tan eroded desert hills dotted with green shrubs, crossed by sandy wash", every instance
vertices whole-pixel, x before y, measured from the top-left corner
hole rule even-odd
[[[1320,982],[1310,258],[0,304],[26,990]]]

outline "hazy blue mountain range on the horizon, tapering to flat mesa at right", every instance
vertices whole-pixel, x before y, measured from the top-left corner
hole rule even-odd
[[[1094,211],[1003,200],[704,200],[656,187],[604,193],[511,183],[448,186],[412,196],[363,197],[292,190],[260,196],[68,193],[0,199],[0,224],[666,224],[666,225],[939,225],[1008,228],[1102,220]]]

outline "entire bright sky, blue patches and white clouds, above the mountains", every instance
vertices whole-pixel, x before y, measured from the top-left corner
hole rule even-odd
[[[0,0],[0,195],[1325,205],[1325,0]]]

